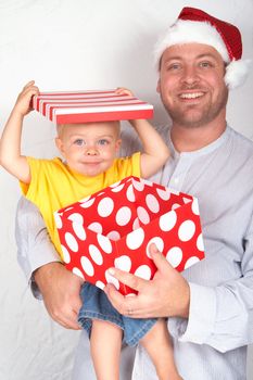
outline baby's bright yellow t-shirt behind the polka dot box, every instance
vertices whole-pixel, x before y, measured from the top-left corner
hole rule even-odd
[[[53,213],[79,201],[118,180],[140,177],[140,153],[114,160],[113,165],[96,177],[86,177],[71,170],[59,157],[39,160],[27,157],[30,167],[30,183],[21,182],[24,195],[39,208],[50,238],[62,255]]]

